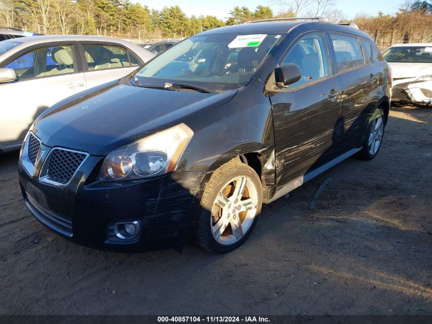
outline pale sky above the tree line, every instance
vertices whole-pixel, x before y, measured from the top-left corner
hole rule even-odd
[[[275,14],[284,9],[283,6],[275,5],[271,0],[132,0],[132,2],[147,5],[150,9],[162,9],[165,6],[178,5],[188,16],[213,15],[223,20],[229,16],[230,11],[235,6],[246,6],[252,11],[258,5],[269,6]],[[382,11],[384,14],[394,14],[398,11],[403,0],[334,0],[334,3],[336,5],[333,8],[342,10],[345,17],[350,19],[359,13],[376,15],[378,11]]]

